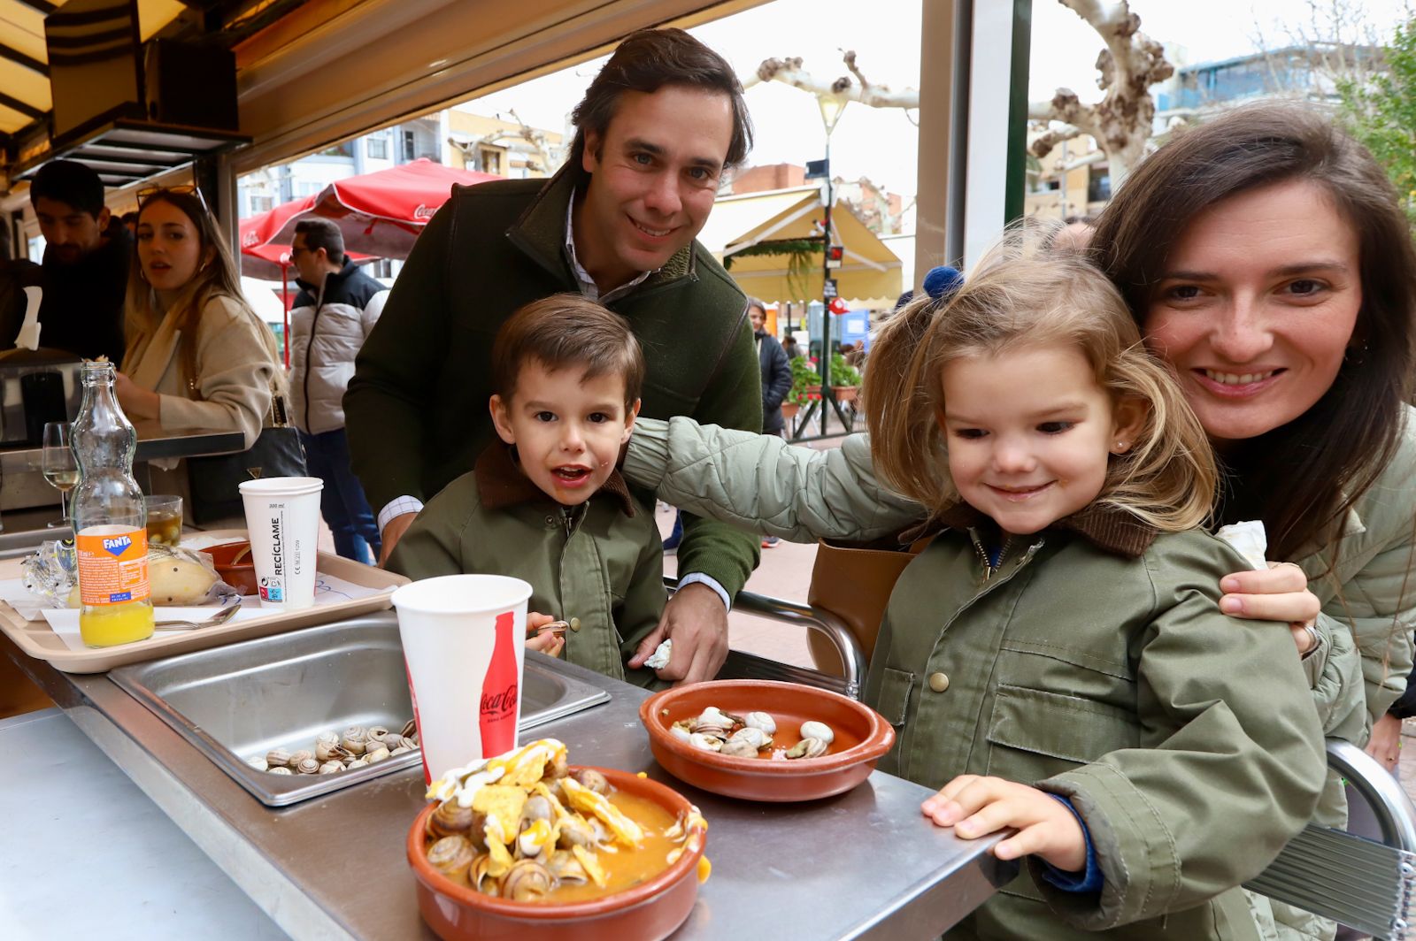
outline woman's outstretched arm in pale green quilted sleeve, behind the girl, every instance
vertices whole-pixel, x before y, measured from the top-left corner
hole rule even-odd
[[[877,480],[864,434],[814,450],[685,417],[641,417],[624,475],[690,512],[793,542],[865,542],[926,516],[919,504]]]

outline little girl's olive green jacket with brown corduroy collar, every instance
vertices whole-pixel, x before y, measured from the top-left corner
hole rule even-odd
[[[1032,858],[947,937],[1259,938],[1238,886],[1308,822],[1327,764],[1289,633],[1219,611],[1239,555],[1093,507],[986,577],[983,521],[956,508],[891,596],[865,685],[899,736],[879,767],[1068,798],[1104,882],[1062,891]]]

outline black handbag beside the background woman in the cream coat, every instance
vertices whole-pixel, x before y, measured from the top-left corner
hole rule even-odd
[[[188,512],[197,525],[246,515],[239,485],[263,477],[309,477],[300,432],[286,425],[283,396],[272,389],[272,425],[236,454],[187,458]]]

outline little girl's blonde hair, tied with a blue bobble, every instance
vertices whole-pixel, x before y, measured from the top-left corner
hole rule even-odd
[[[1146,352],[1112,282],[1080,255],[1051,246],[1055,228],[1015,226],[953,297],[919,297],[885,324],[862,392],[875,468],[936,515],[957,504],[939,426],[944,364],[1069,345],[1086,357],[1113,405],[1134,399],[1147,406],[1134,444],[1110,456],[1093,502],[1163,531],[1199,526],[1218,483],[1205,430],[1168,366]]]

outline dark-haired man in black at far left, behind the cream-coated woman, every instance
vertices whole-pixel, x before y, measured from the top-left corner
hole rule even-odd
[[[109,217],[103,181],[81,163],[55,160],[30,183],[30,205],[45,242],[40,345],[120,364],[133,239]]]

